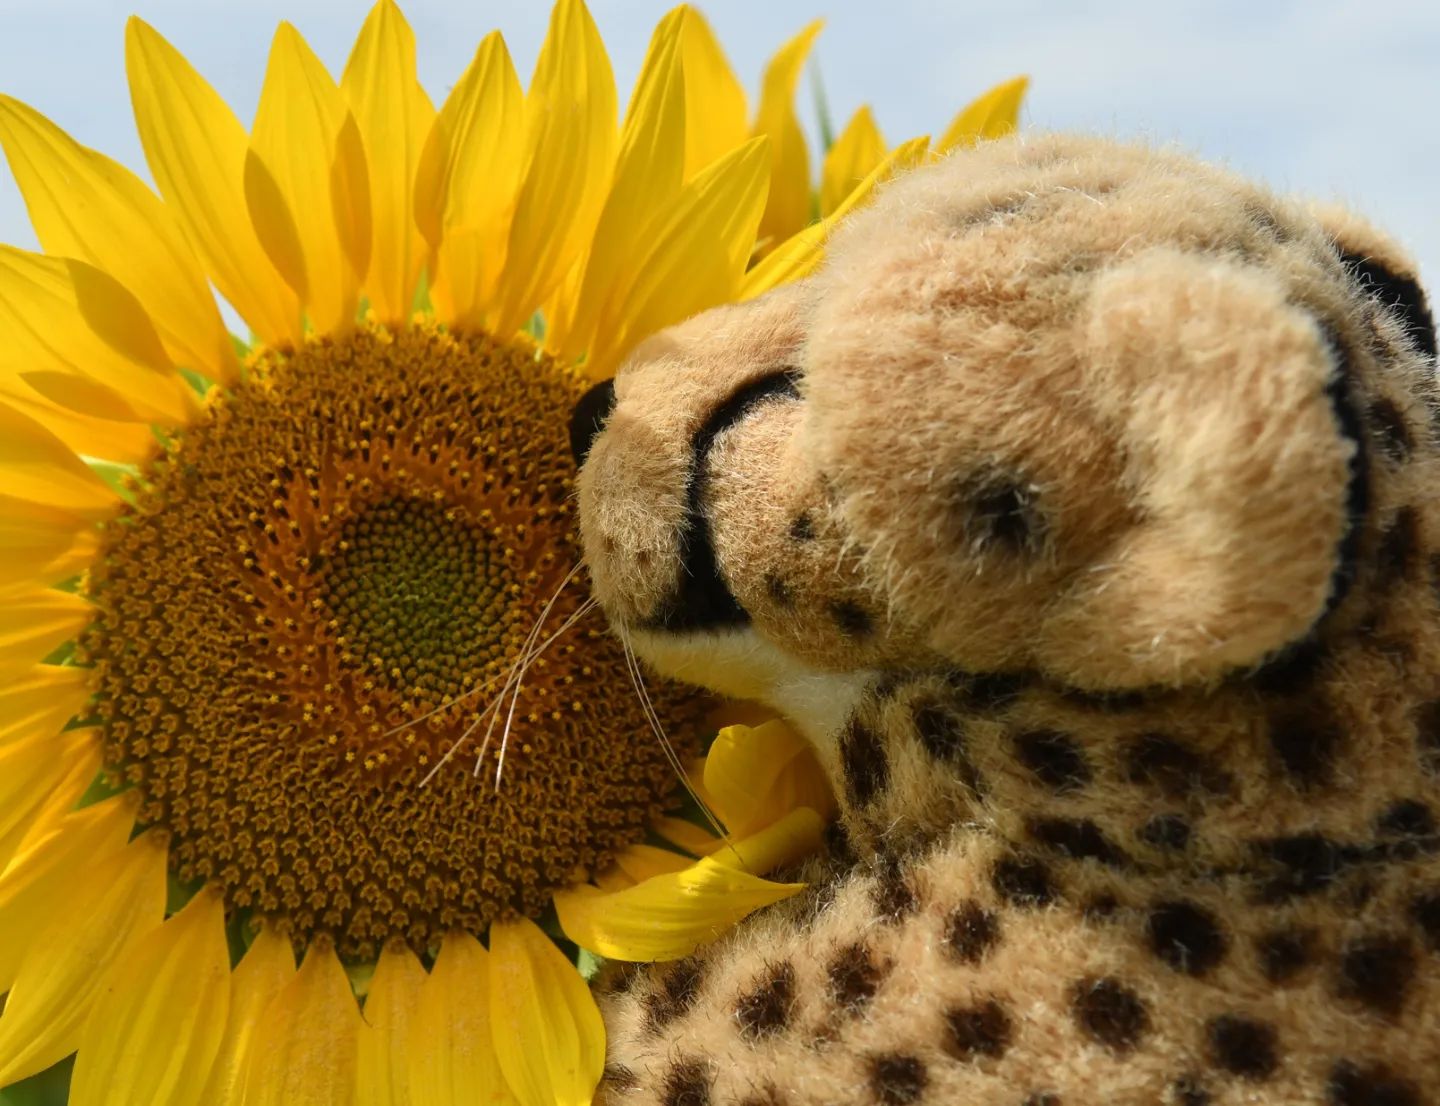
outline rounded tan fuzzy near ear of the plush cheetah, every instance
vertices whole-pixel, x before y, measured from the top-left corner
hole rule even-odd
[[[1128,521],[1041,618],[1040,667],[1178,687],[1305,638],[1358,510],[1356,422],[1315,318],[1263,271],[1155,249],[1097,279],[1083,344]]]

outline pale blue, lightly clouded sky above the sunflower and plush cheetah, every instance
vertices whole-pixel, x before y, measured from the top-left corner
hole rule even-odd
[[[420,78],[439,101],[500,27],[527,75],[543,0],[409,0]],[[1024,125],[1143,137],[1273,187],[1339,199],[1385,226],[1440,281],[1440,3],[1434,0],[724,0],[701,3],[756,89],[766,56],[815,16],[837,125],[873,105],[887,138],[939,134],[989,85],[1030,73]],[[624,104],[662,0],[592,0]],[[144,176],[124,76],[137,13],[179,46],[242,120],[271,35],[292,22],[338,73],[361,0],[0,0],[0,92]],[[802,112],[814,118],[808,82]],[[752,101],[753,102],[753,101]],[[814,132],[814,127],[811,131]],[[0,242],[33,246],[0,173]]]

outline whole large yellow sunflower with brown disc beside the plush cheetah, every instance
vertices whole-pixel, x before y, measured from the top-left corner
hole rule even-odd
[[[282,24],[246,131],[132,19],[158,196],[0,96],[45,251],[0,248],[0,1086],[75,1053],[75,1103],[586,1103],[575,946],[683,956],[798,890],[762,876],[816,847],[818,768],[782,723],[694,759],[708,704],[639,685],[566,425],[924,156],[874,132],[788,233],[812,37],[750,122],[677,9],[616,125],[560,0],[528,89],[491,35],[436,111],[380,0],[338,82]]]

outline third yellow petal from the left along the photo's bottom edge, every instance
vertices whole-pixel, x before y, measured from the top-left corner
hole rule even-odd
[[[350,1106],[361,1028],[334,949],[311,943],[251,1038],[245,1106]]]

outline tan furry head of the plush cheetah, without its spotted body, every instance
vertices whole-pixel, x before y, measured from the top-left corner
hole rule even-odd
[[[1256,670],[1364,572],[1368,412],[1433,366],[1413,272],[1179,156],[953,156],[588,397],[595,593],[660,670],[791,713],[891,670]]]

